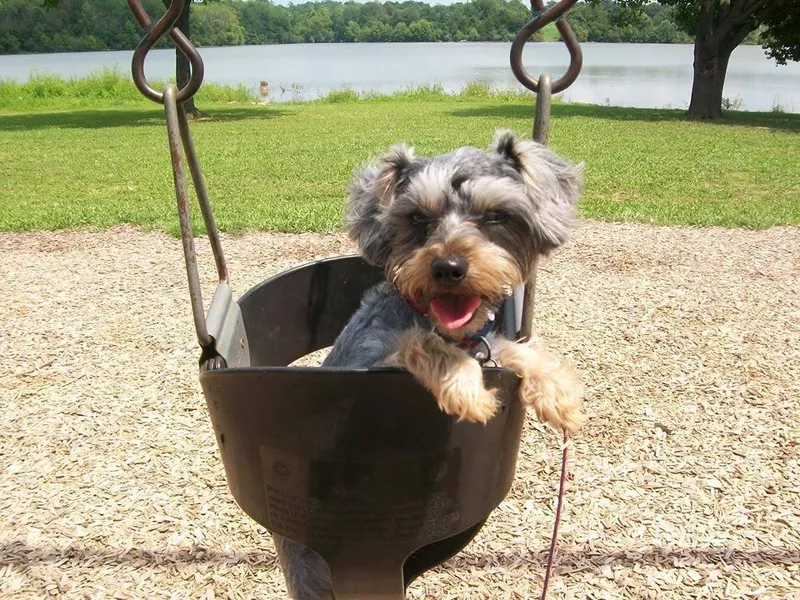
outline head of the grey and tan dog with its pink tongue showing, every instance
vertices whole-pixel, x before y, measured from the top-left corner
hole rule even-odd
[[[580,167],[499,132],[492,150],[395,146],[356,176],[348,225],[364,257],[442,333],[479,331],[537,255],[567,239]]]

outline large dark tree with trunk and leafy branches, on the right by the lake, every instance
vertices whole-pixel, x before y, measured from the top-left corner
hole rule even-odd
[[[620,0],[641,8],[649,0]],[[797,0],[658,0],[675,7],[677,23],[694,37],[694,78],[689,116],[722,117],[722,90],[731,54],[759,27],[762,41],[779,63],[800,58]]]

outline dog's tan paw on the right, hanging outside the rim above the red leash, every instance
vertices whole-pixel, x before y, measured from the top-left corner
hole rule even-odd
[[[522,401],[533,407],[536,416],[556,430],[576,433],[585,423],[585,389],[577,373],[560,364],[546,374],[523,378]]]

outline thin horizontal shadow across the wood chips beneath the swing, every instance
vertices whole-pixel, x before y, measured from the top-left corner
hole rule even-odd
[[[468,563],[484,563],[487,559],[493,566],[511,567],[520,563],[530,564],[539,569],[547,562],[547,548],[538,552],[470,554],[461,555]],[[0,546],[0,566],[12,565],[32,567],[58,563],[61,568],[71,566],[104,567],[133,566],[135,568],[164,565],[203,564],[228,565],[247,564],[250,567],[272,570],[278,566],[274,553],[263,550],[249,550],[239,553],[224,553],[202,546],[192,546],[175,550],[148,550],[131,548],[87,548],[70,545],[63,548],[32,546],[21,540],[7,542]],[[561,549],[556,566],[560,572],[581,572],[599,568],[603,565],[649,565],[664,568],[689,566],[694,564],[743,565],[797,565],[800,563],[800,549],[768,547],[758,550],[730,550],[728,548],[626,548],[607,552],[576,551]],[[460,567],[452,559],[439,567],[444,571],[456,571]]]

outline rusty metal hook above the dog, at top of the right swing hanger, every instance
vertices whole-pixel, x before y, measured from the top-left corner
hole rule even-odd
[[[520,30],[514,42],[511,44],[511,70],[517,80],[532,92],[539,91],[539,81],[528,75],[525,67],[522,66],[522,50],[525,47],[525,43],[534,33],[553,21],[556,21],[558,32],[561,34],[564,43],[569,49],[569,68],[560,79],[553,82],[552,93],[557,94],[558,92],[563,92],[572,85],[572,82],[575,81],[578,74],[581,72],[581,67],[583,66],[581,46],[578,43],[578,38],[575,37],[575,32],[572,30],[572,27],[563,19],[564,14],[575,6],[577,2],[578,0],[561,0],[561,2],[544,10],[542,0],[531,0],[534,18]]]

